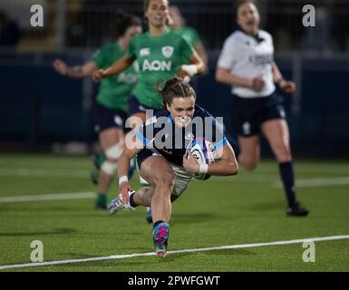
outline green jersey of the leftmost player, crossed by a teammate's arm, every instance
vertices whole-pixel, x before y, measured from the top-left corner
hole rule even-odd
[[[126,51],[122,51],[119,43],[109,43],[92,56],[92,61],[99,68],[105,69],[115,63]],[[126,71],[102,80],[97,95],[97,102],[113,109],[127,111],[127,99],[137,82],[136,62]]]

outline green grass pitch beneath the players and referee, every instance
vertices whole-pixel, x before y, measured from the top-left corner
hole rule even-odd
[[[93,198],[5,202],[1,198],[94,192],[90,159],[51,155],[0,156],[0,266],[31,263],[33,240],[44,262],[152,251],[145,208],[109,216]],[[349,235],[349,162],[296,160],[298,198],[307,218],[286,217],[274,160],[238,176],[193,181],[173,203],[169,250]],[[117,192],[114,182],[109,197]],[[135,189],[137,178],[132,179]],[[315,262],[302,243],[211,250],[3,271],[349,271],[349,239],[315,242]]]

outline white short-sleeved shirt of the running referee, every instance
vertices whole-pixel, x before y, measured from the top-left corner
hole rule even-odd
[[[232,86],[231,92],[242,98],[266,97],[275,91],[272,73],[274,61],[273,37],[258,30],[257,37],[237,30],[226,39],[218,58],[218,67],[241,77],[254,78],[262,75],[265,85],[260,92]]]

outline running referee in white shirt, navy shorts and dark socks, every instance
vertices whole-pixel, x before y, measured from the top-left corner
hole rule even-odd
[[[286,192],[287,215],[306,216],[309,211],[296,200],[293,161],[286,114],[274,82],[287,93],[295,92],[274,62],[273,38],[259,29],[260,16],[252,1],[237,5],[239,29],[228,36],[218,59],[216,79],[230,84],[233,94],[233,127],[238,133],[238,161],[255,169],[260,156],[259,134],[267,138],[279,165]]]

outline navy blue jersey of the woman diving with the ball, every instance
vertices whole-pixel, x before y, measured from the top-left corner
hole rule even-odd
[[[136,133],[145,149],[159,153],[171,163],[182,166],[183,155],[195,143],[208,140],[218,150],[228,143],[224,134],[223,122],[218,122],[208,111],[198,105],[186,128],[175,126],[170,112],[159,111]]]

